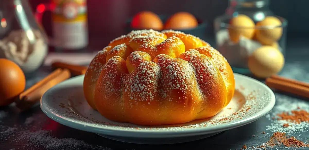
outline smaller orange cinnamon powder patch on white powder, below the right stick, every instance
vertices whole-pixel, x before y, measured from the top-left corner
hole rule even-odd
[[[292,114],[283,112],[278,114],[277,116],[281,117],[278,118],[278,120],[290,120],[290,121],[294,121],[295,123],[301,123],[304,121],[309,122],[309,113],[305,110],[293,110],[291,111]]]

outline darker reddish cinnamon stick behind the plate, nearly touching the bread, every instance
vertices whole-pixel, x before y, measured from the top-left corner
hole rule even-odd
[[[85,66],[73,65],[73,64],[68,64],[68,63],[59,62],[59,61],[53,62],[52,67],[61,68],[61,69],[69,69],[70,72],[75,76],[85,74],[87,71],[87,67]]]

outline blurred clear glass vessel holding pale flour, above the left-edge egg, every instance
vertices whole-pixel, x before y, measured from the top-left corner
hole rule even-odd
[[[27,0],[5,0],[0,5],[0,58],[33,73],[47,54],[47,37],[37,24]]]

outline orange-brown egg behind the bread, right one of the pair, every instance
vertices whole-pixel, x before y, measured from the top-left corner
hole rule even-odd
[[[190,29],[198,26],[197,19],[188,12],[173,14],[164,24],[164,29]]]

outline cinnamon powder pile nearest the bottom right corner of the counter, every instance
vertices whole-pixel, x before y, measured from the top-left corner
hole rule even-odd
[[[273,136],[270,137],[269,141],[266,143],[268,146],[275,146],[283,144],[286,147],[309,147],[309,144],[305,144],[303,141],[297,140],[294,136],[288,138],[286,133],[275,132]]]

